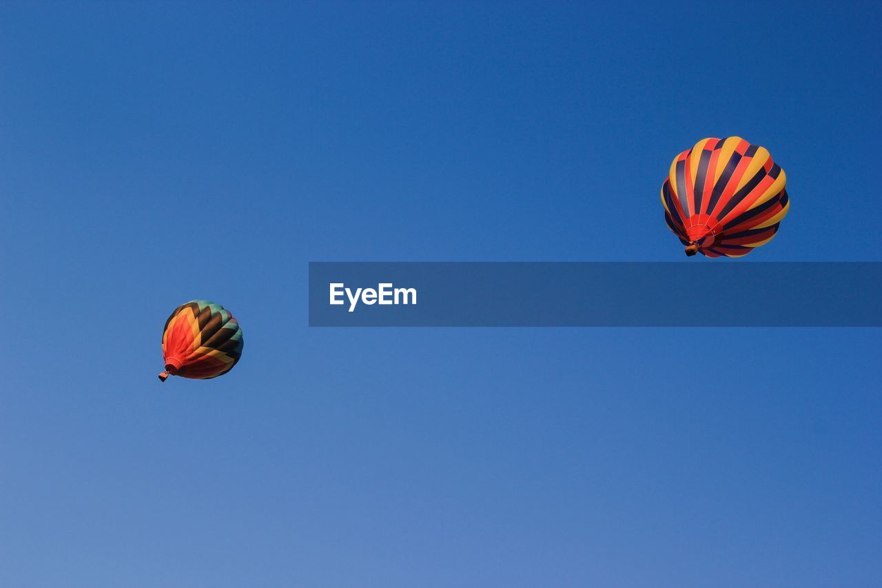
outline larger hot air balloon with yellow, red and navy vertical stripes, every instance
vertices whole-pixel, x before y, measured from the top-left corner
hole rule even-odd
[[[766,148],[741,137],[701,139],[670,165],[664,218],[686,255],[741,257],[778,232],[790,207],[785,182]]]

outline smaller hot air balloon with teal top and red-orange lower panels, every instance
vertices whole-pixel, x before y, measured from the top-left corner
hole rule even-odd
[[[242,356],[242,329],[221,305],[191,300],[180,305],[166,320],[162,332],[162,355],[169,374],[208,380],[229,372]]]

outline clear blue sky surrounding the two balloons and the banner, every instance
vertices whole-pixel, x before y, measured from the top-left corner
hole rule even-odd
[[[707,136],[789,177],[736,263],[879,260],[820,4],[0,6],[0,585],[882,584],[878,330],[307,327],[310,260],[685,262]],[[243,359],[162,385],[191,298]]]

